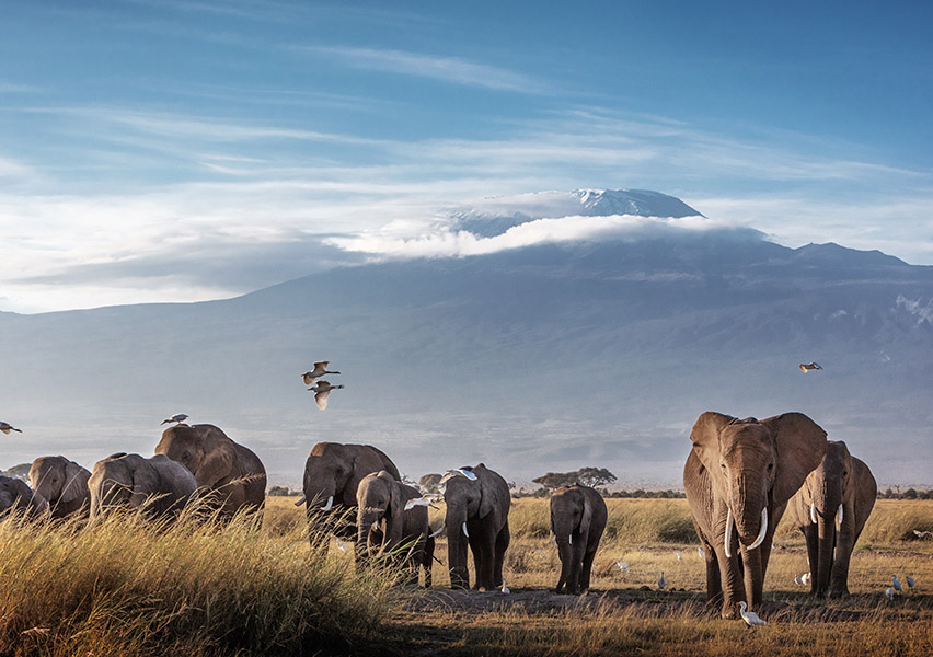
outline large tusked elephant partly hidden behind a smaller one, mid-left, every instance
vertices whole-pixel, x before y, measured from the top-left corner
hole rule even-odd
[[[402,480],[392,459],[371,445],[319,442],[304,462],[304,495],[295,505],[304,504],[309,516],[320,510],[341,517],[356,508],[359,482],[381,470],[395,481]],[[335,533],[354,538],[356,528],[349,520],[337,527]]]

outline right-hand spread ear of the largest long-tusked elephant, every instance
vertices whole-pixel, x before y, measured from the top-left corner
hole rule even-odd
[[[774,435],[778,452],[778,474],[771,491],[775,505],[794,496],[807,475],[826,454],[826,431],[803,413],[783,413],[762,419],[761,424]]]

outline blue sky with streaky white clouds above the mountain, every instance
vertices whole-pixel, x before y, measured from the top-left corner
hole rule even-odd
[[[549,189],[933,265],[933,5],[859,4],[4,2],[0,311],[235,296]]]

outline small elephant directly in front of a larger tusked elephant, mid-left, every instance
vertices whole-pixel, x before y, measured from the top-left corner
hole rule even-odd
[[[362,477],[356,489],[357,545],[360,552],[370,555],[402,548],[410,581],[417,583],[421,564],[425,569],[425,587],[429,588],[434,538],[427,508],[413,506],[405,510],[406,502],[421,496],[417,488],[396,481],[385,470]]]

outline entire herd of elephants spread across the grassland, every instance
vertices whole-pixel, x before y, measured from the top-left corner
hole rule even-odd
[[[692,448],[683,485],[706,565],[710,604],[723,618],[739,618],[739,606],[758,609],[774,532],[787,511],[806,538],[811,593],[848,595],[849,561],[872,512],[877,485],[868,466],[844,442],[802,413],[739,419],[703,413],[690,434]],[[221,519],[238,511],[261,514],[266,475],[258,457],[212,425],[165,429],[156,454],[118,453],[92,472],[64,457],[36,459],[32,489],[0,477],[0,510],[21,507],[55,518],[90,515],[115,506],[140,507],[173,518],[199,498]],[[303,497],[310,519],[335,514],[333,531],[356,540],[357,555],[402,558],[410,579],[425,570],[431,585],[435,538],[427,506],[433,499],[401,481],[392,460],[369,445],[320,442],[304,465]],[[506,481],[483,463],[449,470],[441,477],[446,503],[450,585],[505,589],[503,565],[509,546],[511,495]],[[580,484],[555,491],[551,530],[561,572],[556,591],[589,588],[592,562],[607,523],[607,506]],[[355,523],[354,523],[355,517]]]

